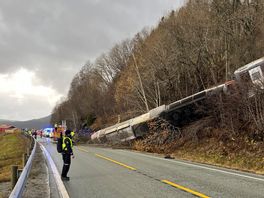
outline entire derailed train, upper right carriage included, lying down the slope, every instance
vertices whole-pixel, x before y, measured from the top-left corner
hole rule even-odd
[[[234,77],[234,80],[224,84],[203,90],[169,105],[159,106],[146,114],[99,130],[91,136],[91,139],[94,142],[100,143],[107,141],[117,143],[133,140],[148,133],[149,129],[147,122],[157,117],[164,118],[173,125],[179,126],[184,123],[184,121],[191,121],[190,118],[193,117],[192,115],[194,115],[197,109],[197,104],[201,104],[214,95],[219,95],[221,93],[230,94],[230,92],[234,91],[236,84],[241,84],[241,81],[251,82],[263,89],[264,57],[237,69],[234,72]]]

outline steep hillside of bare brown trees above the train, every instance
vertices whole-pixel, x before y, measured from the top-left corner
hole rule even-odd
[[[264,55],[263,14],[260,0],[190,0],[88,61],[52,122],[99,129],[231,79]]]

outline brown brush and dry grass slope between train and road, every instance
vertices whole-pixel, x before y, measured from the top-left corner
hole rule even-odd
[[[264,174],[264,92],[213,99],[210,116],[183,128],[164,120],[149,123],[136,150]]]

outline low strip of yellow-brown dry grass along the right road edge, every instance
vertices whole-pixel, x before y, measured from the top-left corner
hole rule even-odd
[[[196,146],[183,146],[172,152],[176,158],[264,174],[264,144],[240,142],[223,144],[216,139],[201,141]],[[234,148],[236,147],[236,149]]]

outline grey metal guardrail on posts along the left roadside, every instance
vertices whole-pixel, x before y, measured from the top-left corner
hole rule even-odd
[[[31,137],[32,138],[32,137]],[[30,170],[31,170],[31,166],[32,166],[32,161],[33,161],[33,158],[34,158],[34,155],[35,155],[35,151],[36,151],[36,140],[34,138],[32,138],[33,141],[34,141],[34,147],[32,149],[32,152],[30,154],[30,157],[27,161],[27,164],[26,166],[23,168],[23,171],[13,189],[13,191],[11,192],[9,198],[20,198],[22,197],[22,194],[23,194],[23,191],[24,191],[24,188],[25,188],[25,185],[26,185],[26,181],[27,181],[27,178],[28,178],[28,175],[30,173]]]

